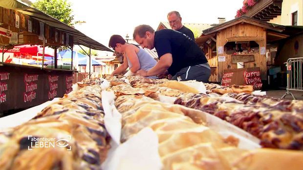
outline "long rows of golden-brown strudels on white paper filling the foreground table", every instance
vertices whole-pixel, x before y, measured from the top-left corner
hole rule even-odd
[[[146,128],[155,155],[117,153]],[[65,144],[46,147],[46,139]],[[158,166],[143,169],[302,170],[303,101],[258,95],[251,85],[93,78],[0,131],[1,170],[139,170],[149,161]]]

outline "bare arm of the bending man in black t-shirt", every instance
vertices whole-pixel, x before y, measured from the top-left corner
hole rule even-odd
[[[160,60],[155,66],[153,66],[149,71],[139,70],[137,73],[144,77],[156,76],[163,74],[173,63],[173,56],[171,53],[166,53],[160,57]]]

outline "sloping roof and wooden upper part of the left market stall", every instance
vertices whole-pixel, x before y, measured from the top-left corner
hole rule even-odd
[[[23,1],[1,1],[0,25],[1,29],[5,30],[1,32],[7,34],[1,41],[2,48],[6,49],[3,53],[17,44],[39,44],[43,46],[43,49],[45,46],[53,46],[55,61],[57,61],[57,48],[60,46],[67,46],[72,50],[74,45],[85,45],[96,50],[112,51]],[[45,56],[44,50],[42,54]],[[55,62],[55,68],[57,68],[57,62]]]

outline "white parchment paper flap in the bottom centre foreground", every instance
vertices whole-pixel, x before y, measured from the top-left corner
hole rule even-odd
[[[157,134],[146,127],[120,146],[113,144],[102,169],[161,170]]]

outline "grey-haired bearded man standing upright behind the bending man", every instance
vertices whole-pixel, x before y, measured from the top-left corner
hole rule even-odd
[[[179,31],[195,40],[193,31],[182,25],[182,18],[178,11],[169,12],[167,14],[167,20],[170,22],[171,28],[173,30]]]

